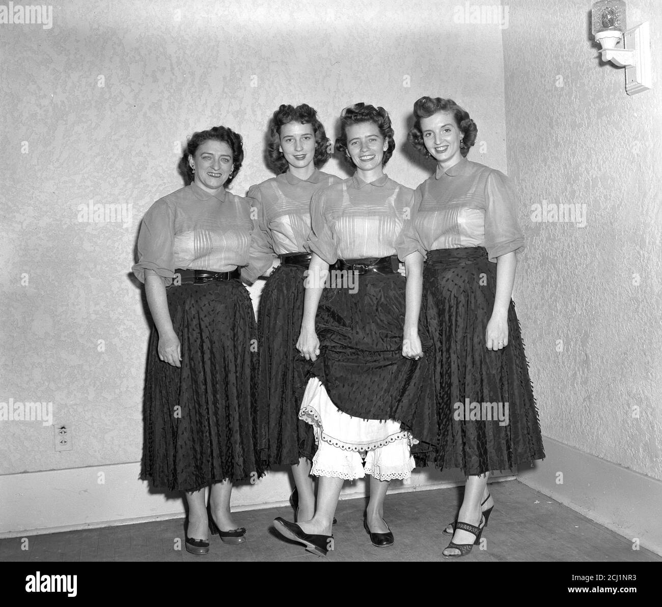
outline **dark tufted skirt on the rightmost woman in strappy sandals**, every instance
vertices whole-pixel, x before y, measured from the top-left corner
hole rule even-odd
[[[483,247],[430,251],[421,313],[434,341],[441,440],[435,464],[466,475],[544,458],[538,409],[515,304],[508,345],[485,347],[495,302],[496,263]],[[483,405],[483,403],[486,403]]]

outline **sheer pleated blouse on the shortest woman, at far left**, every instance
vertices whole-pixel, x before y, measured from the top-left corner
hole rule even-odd
[[[230,272],[248,263],[252,229],[246,198],[226,190],[209,194],[194,182],[148,209],[133,272],[145,282],[145,270],[154,270],[166,286],[175,268]]]

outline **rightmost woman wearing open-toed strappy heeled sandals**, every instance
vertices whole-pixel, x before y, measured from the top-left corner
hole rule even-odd
[[[490,471],[544,458],[538,410],[510,295],[524,249],[517,194],[500,171],[466,156],[478,129],[452,99],[421,97],[408,139],[436,172],[416,188],[402,255],[427,254],[422,315],[435,343],[440,426],[436,465],[467,475],[443,555],[478,544],[494,501]]]

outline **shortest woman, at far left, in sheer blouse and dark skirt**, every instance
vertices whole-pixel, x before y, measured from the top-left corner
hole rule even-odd
[[[252,221],[246,198],[225,189],[244,159],[239,134],[197,132],[187,159],[191,184],[146,212],[133,266],[155,325],[140,477],[185,492],[186,549],[207,554],[208,528],[228,544],[244,542],[246,529],[230,514],[232,482],[262,473],[251,389],[257,332],[238,269],[248,263]]]

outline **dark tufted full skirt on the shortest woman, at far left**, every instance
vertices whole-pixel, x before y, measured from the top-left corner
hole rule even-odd
[[[144,399],[141,479],[196,491],[262,474],[254,441],[252,367],[257,330],[238,280],[166,289],[181,368],[158,357],[152,331]]]

